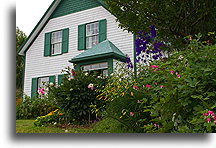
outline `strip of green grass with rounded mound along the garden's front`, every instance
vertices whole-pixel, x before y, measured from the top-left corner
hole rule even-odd
[[[122,124],[112,118],[105,118],[92,127],[58,128],[36,127],[34,120],[16,120],[16,133],[127,133]]]

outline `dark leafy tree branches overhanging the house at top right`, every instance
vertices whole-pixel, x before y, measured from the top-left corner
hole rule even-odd
[[[176,47],[184,37],[214,31],[216,0],[105,0],[115,14],[120,27],[137,34],[150,25],[158,29],[157,36]],[[204,36],[208,39],[207,36]]]

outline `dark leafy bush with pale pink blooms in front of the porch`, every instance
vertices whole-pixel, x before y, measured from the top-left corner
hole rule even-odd
[[[63,82],[50,88],[49,97],[57,101],[68,122],[76,121],[81,124],[96,120],[96,114],[92,113],[92,109],[103,109],[104,101],[96,98],[98,93],[95,89],[103,87],[106,78],[87,72],[75,73],[70,68],[64,72],[67,72],[67,75],[64,76]]]

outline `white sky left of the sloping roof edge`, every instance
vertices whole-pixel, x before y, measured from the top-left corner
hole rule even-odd
[[[16,0],[16,26],[29,35],[53,0]]]

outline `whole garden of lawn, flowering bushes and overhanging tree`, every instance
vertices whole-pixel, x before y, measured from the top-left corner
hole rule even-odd
[[[17,97],[16,132],[215,133],[213,2],[154,2],[106,0],[136,35],[134,62],[127,55],[108,77],[66,67],[60,85]]]

